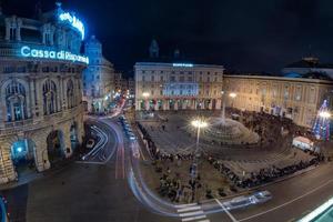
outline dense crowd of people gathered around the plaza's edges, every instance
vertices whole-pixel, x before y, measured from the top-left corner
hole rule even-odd
[[[295,125],[286,118],[248,111],[239,112],[241,121],[244,123],[244,125],[255,131],[260,135],[260,138],[262,138],[259,144],[260,147],[266,147],[269,149],[274,149],[276,147],[278,149],[279,145],[281,147],[281,143],[278,143],[278,141],[282,140],[283,137],[286,135],[286,138],[284,138],[283,140],[289,141],[289,139],[295,135],[304,135],[304,133],[306,133],[306,129]],[[163,122],[168,122],[168,119],[167,121],[163,120]],[[191,152],[173,154],[164,153],[163,151],[161,152],[152,141],[148,130],[140,122],[137,122],[137,124],[142,133],[143,141],[145,142],[152,154],[153,164],[157,164],[157,162],[159,161],[163,161],[164,163],[176,162],[178,165],[180,165],[183,160],[193,160],[194,154]],[[160,128],[162,131],[165,131],[164,124],[162,124]],[[179,129],[179,127],[176,129]],[[286,132],[286,134],[283,135],[283,132]],[[208,162],[213,165],[213,168],[215,168],[220,173],[229,179],[232,184],[230,188],[233,188],[232,191],[236,192],[236,188],[246,189],[258,186],[276,180],[278,178],[293,174],[311,165],[316,165],[324,160],[324,157],[322,154],[315,152],[310,152],[309,154],[312,155],[309,161],[303,160],[283,168],[270,165],[268,168],[260,169],[256,172],[250,172],[246,175],[240,175],[233,172],[233,170],[223,164],[222,161],[214,159],[210,154],[203,154],[203,158],[208,160]],[[182,180],[180,179],[181,175],[179,173],[171,173],[169,167],[167,169],[157,167],[157,171],[162,174],[162,176],[160,178],[159,193],[162,196],[168,196],[172,202],[193,202],[196,199],[198,191],[201,191],[202,188],[205,188],[206,191],[206,185],[202,185],[200,175],[191,175],[191,169],[189,173],[189,183],[185,184],[183,184],[184,182],[181,182]]]

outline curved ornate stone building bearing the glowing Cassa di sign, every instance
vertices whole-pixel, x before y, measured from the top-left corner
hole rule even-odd
[[[83,23],[61,4],[0,14],[0,183],[69,158],[83,137]]]

